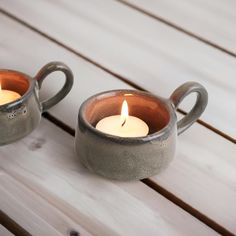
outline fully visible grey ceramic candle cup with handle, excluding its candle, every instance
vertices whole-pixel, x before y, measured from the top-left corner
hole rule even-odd
[[[192,92],[197,93],[196,104],[190,113],[177,122],[175,110],[182,99]],[[105,134],[95,128],[101,118],[118,113],[114,110],[109,114],[108,110],[120,107],[122,97],[128,99],[129,107],[131,104],[132,115],[146,121],[149,127],[154,127],[150,134],[123,138]],[[79,111],[75,140],[78,157],[89,170],[111,179],[138,180],[156,175],[174,158],[177,135],[201,115],[207,105],[207,97],[205,88],[195,82],[180,86],[170,99],[137,90],[114,90],[97,94],[86,100]],[[138,100],[137,104],[135,100]],[[142,112],[145,101],[150,108],[149,112]],[[157,119],[150,118],[155,116],[156,111]],[[160,125],[155,126],[159,120]],[[161,127],[160,130],[158,127]]]

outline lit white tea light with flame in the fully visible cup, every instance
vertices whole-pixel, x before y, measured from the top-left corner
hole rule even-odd
[[[108,116],[100,120],[96,129],[120,137],[142,137],[149,132],[148,125],[135,116],[129,116],[127,101],[122,104],[121,115]]]

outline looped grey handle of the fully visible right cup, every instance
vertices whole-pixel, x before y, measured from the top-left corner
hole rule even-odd
[[[171,103],[177,109],[180,102],[190,93],[197,93],[197,100],[192,110],[177,122],[178,135],[188,129],[203,113],[208,101],[206,89],[199,83],[187,82],[178,87],[170,96]]]

